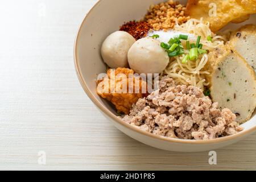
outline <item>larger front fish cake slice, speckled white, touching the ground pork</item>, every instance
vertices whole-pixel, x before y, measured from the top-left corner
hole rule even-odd
[[[209,55],[210,92],[220,109],[228,108],[237,122],[250,119],[256,106],[256,76],[249,64],[231,49],[219,48]]]

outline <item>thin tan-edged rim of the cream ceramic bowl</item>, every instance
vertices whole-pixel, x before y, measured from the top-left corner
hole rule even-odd
[[[82,88],[84,89],[85,93],[87,94],[87,96],[90,98],[90,100],[92,100],[92,102],[98,107],[98,109],[100,109],[104,114],[108,115],[109,118],[111,118],[114,122],[117,122],[123,126],[125,126],[127,129],[133,130],[139,134],[143,134],[146,135],[147,137],[151,137],[154,139],[159,139],[162,141],[166,141],[166,142],[172,142],[172,143],[182,143],[182,144],[213,144],[213,143],[219,143],[219,142],[227,142],[229,140],[233,140],[236,139],[238,137],[243,137],[245,135],[249,135],[250,133],[254,133],[254,131],[256,130],[256,126],[251,127],[248,130],[243,130],[240,133],[234,134],[234,135],[230,135],[227,137],[220,137],[220,138],[215,138],[215,139],[208,139],[208,140],[192,140],[192,139],[177,139],[177,138],[170,138],[170,137],[163,137],[160,135],[155,135],[152,133],[149,133],[147,131],[143,131],[141,129],[138,129],[137,127],[131,126],[126,122],[123,122],[122,119],[118,118],[116,115],[114,115],[110,110],[108,110],[106,107],[104,107],[100,101],[97,100],[96,97],[93,96],[93,93],[90,91],[88,85],[86,84],[84,78],[82,77],[82,73],[81,73],[81,68],[79,66],[79,61],[77,59],[77,43],[79,42],[79,38],[80,38],[80,34],[81,34],[81,29],[84,26],[86,19],[88,18],[88,16],[92,13],[92,11],[94,10],[94,8],[103,0],[98,0],[94,6],[92,7],[92,9],[90,9],[88,11],[88,13],[85,15],[85,18],[82,20],[82,23],[79,26],[79,30],[77,31],[76,34],[76,39],[75,39],[75,46],[74,46],[74,63],[75,63],[75,69],[76,69],[76,75],[79,78],[80,84],[82,86]]]

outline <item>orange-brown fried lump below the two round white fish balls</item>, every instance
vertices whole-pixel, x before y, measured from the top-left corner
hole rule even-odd
[[[146,82],[135,77],[134,71],[128,68],[109,69],[107,75],[98,82],[98,95],[112,102],[119,112],[129,114],[133,104],[146,93],[146,90],[143,92],[142,89],[142,86],[146,88]],[[135,92],[137,85],[138,92]]]

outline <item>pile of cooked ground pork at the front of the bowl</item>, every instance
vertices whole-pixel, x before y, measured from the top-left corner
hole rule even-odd
[[[156,135],[181,139],[213,139],[243,130],[235,114],[217,106],[201,89],[175,85],[172,78],[163,77],[159,89],[140,98],[122,120]]]

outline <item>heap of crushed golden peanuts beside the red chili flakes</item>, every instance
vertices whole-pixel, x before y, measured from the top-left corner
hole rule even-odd
[[[183,24],[190,19],[189,16],[184,15],[185,11],[186,7],[179,2],[169,0],[158,5],[151,5],[144,19],[154,30],[167,31],[170,28],[174,28],[176,20],[177,23]]]

